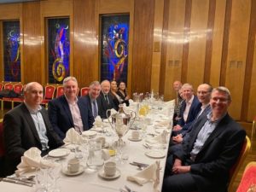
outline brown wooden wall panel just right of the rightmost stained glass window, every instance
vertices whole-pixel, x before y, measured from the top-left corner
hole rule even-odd
[[[135,1],[134,18],[136,44],[133,47],[131,90],[147,92],[152,68],[154,0]]]

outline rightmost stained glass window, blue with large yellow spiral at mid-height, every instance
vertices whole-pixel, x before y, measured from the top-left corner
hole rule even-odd
[[[129,15],[102,15],[101,80],[127,83]]]

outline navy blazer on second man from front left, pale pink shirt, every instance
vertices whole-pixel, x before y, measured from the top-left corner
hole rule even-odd
[[[84,131],[86,131],[93,126],[94,117],[88,107],[87,100],[82,97],[79,97],[78,99],[78,106],[84,125]],[[59,96],[58,98],[49,101],[48,114],[54,130],[58,133],[61,139],[64,139],[67,130],[74,127],[72,114],[69,109],[66,96]]]

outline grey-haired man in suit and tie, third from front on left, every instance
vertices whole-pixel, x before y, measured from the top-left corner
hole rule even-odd
[[[96,118],[96,116],[98,115],[98,103],[96,101],[96,98],[100,95],[101,90],[101,84],[98,81],[93,81],[90,83],[89,94],[87,96],[84,96],[89,104],[89,108],[94,118]]]

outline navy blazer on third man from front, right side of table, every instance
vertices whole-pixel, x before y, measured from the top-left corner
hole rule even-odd
[[[201,111],[201,102],[199,102],[197,96],[194,96],[194,99],[191,103],[191,107],[189,108],[189,114],[186,121],[183,119],[183,113],[185,108],[186,108],[186,102],[184,101],[182,102],[182,106],[180,108],[181,119],[179,119],[177,122],[177,125],[180,125],[183,127],[182,131],[189,129],[189,126],[192,124],[197,114]]]

